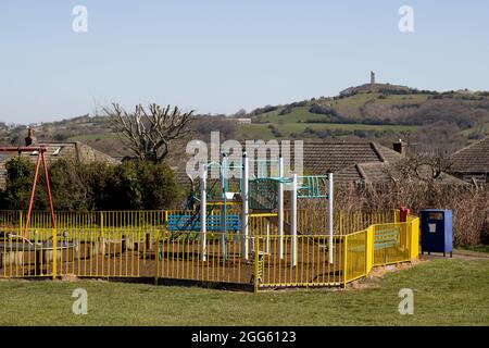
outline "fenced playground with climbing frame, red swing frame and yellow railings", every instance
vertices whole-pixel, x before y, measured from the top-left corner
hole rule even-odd
[[[180,211],[0,211],[0,277],[141,278],[253,291],[344,287],[418,257],[409,210],[334,210],[334,175],[286,175],[283,158],[203,163]],[[234,173],[234,175],[231,175]],[[314,201],[317,210],[301,209]]]

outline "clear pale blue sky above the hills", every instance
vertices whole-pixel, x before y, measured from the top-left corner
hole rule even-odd
[[[88,33],[72,10],[88,9]],[[401,5],[414,33],[401,33]],[[48,122],[112,101],[206,113],[334,96],[368,80],[489,89],[489,2],[3,0],[0,121]]]

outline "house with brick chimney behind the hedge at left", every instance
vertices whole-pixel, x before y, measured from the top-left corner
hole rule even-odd
[[[33,147],[45,147],[46,148],[46,160],[48,163],[58,161],[58,160],[76,160],[79,162],[95,162],[102,161],[108,163],[116,164],[117,160],[112,157],[100,152],[83,142],[79,141],[64,141],[64,142],[37,142],[36,137],[34,136],[34,129],[29,128],[28,135],[25,138],[25,146]],[[37,161],[37,153],[28,153],[28,152],[7,152],[0,153],[0,188],[4,188],[5,178],[7,178],[7,169],[5,163],[13,157],[28,157],[33,162]]]

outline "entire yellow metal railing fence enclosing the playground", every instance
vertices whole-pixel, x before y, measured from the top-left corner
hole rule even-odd
[[[24,235],[18,227],[23,213],[0,212],[0,277],[154,277],[256,289],[344,286],[374,266],[418,254],[419,219],[400,223],[392,211],[343,215],[344,228],[350,222],[364,228],[334,235],[333,250],[324,231],[279,237],[274,220],[263,214],[250,217],[247,239],[241,232],[208,232],[202,245],[199,232],[166,231],[168,213],[181,211],[58,213],[58,231],[38,227],[45,224],[38,219]],[[366,226],[372,221],[377,223]]]

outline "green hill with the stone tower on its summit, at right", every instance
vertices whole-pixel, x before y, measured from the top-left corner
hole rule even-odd
[[[383,86],[353,87],[334,98],[256,109],[249,114],[252,124],[239,127],[239,136],[368,139],[389,146],[403,138],[422,148],[449,145],[455,150],[489,134],[488,92]]]

